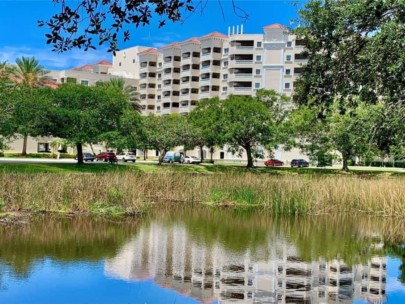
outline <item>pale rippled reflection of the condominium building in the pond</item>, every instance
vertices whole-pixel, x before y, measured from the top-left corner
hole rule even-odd
[[[386,258],[348,266],[341,260],[299,258],[286,240],[262,248],[229,252],[205,246],[183,225],[152,223],[141,229],[116,257],[106,261],[108,276],[127,281],[152,279],[201,302],[369,303],[386,300]]]

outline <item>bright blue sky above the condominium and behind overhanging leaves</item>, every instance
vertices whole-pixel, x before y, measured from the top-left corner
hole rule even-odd
[[[273,23],[297,26],[294,20],[297,19],[298,9],[291,0],[235,0],[235,4],[247,13],[247,20],[233,12],[231,0],[220,1],[221,5],[218,0],[206,0],[203,11],[198,9],[184,22],[167,22],[163,28],[158,28],[156,18],[146,27],[130,26],[131,40],[125,43],[120,40],[119,48],[135,45],[160,48],[213,31],[227,34],[228,26],[240,24],[244,25],[245,33],[262,33],[264,26]],[[300,5],[304,3],[303,0],[298,1]],[[13,64],[18,57],[34,56],[46,69],[63,70],[100,60],[112,61],[107,46],[88,52],[79,49],[53,52],[52,45],[46,44],[47,29],[39,28],[37,21],[48,20],[59,9],[60,6],[52,0],[0,0],[0,62]]]

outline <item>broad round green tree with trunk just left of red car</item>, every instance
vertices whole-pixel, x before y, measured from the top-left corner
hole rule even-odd
[[[49,133],[75,144],[79,163],[83,144],[98,142],[106,133],[125,127],[122,119],[130,105],[118,88],[63,84],[52,95]]]

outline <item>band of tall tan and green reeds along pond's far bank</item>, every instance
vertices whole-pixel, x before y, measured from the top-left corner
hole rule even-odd
[[[0,174],[3,211],[133,214],[153,203],[259,207],[276,214],[405,216],[405,179],[356,176]],[[1,210],[0,210],[1,211]]]

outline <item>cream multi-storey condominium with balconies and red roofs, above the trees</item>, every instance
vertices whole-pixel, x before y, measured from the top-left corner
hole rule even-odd
[[[265,26],[262,34],[246,34],[241,26],[229,28],[228,35],[213,32],[160,50],[119,51],[114,70],[133,75],[139,71],[143,114],[186,114],[201,99],[253,96],[260,88],[291,96],[307,60],[303,47],[303,41],[280,24]]]

